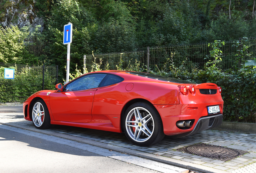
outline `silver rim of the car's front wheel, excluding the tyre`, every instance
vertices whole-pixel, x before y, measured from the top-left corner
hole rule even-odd
[[[43,105],[40,102],[35,103],[32,111],[32,119],[34,125],[40,127],[43,124],[44,120],[44,109]]]

